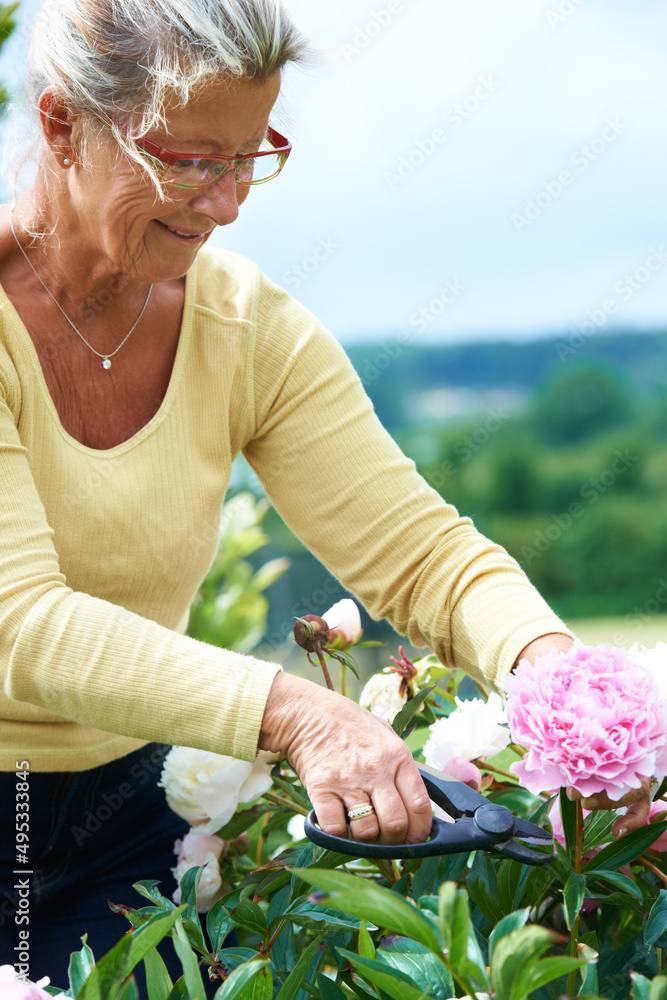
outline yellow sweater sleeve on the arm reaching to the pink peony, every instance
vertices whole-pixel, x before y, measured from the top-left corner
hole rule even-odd
[[[254,364],[246,457],[286,523],[374,618],[494,687],[533,639],[570,634],[507,552],[418,475],[334,338],[266,281]]]

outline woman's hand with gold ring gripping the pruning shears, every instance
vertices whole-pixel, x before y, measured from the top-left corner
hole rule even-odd
[[[431,829],[431,803],[409,749],[382,719],[334,691],[276,675],[259,747],[283,754],[297,771],[325,833],[347,837],[345,809],[370,803],[352,819],[355,840],[416,844]]]

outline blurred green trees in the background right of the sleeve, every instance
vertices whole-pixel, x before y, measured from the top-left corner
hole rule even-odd
[[[667,612],[667,380],[638,392],[620,367],[573,360],[518,412],[396,437],[411,454],[425,433],[433,457],[419,471],[558,613]]]

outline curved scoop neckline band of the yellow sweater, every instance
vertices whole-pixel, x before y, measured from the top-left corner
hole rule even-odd
[[[167,386],[167,391],[164,394],[162,402],[160,404],[157,412],[151,417],[148,423],[144,424],[133,434],[131,437],[127,438],[125,441],[121,441],[120,444],[114,445],[113,448],[90,448],[88,445],[83,444],[77,438],[72,437],[72,435],[65,430],[63,424],[60,420],[60,415],[56,409],[56,405],[53,402],[51,393],[49,392],[49,387],[46,384],[46,379],[44,378],[44,372],[42,371],[42,366],[39,361],[39,355],[37,354],[37,349],[32,341],[32,337],[28,333],[23,320],[19,316],[18,312],[14,308],[14,304],[5,292],[2,285],[0,285],[0,308],[6,312],[8,318],[11,322],[13,329],[19,336],[21,344],[28,356],[31,368],[35,375],[36,384],[39,388],[40,394],[46,404],[49,413],[51,414],[52,420],[58,430],[60,436],[74,449],[83,452],[86,455],[95,455],[97,458],[115,458],[118,455],[129,451],[131,448],[136,447],[147,437],[149,437],[157,427],[164,421],[167,413],[171,409],[173,401],[178,394],[178,389],[182,380],[183,370],[185,368],[186,357],[188,349],[190,346],[190,339],[192,335],[193,327],[193,317],[194,317],[194,305],[196,297],[197,288],[197,258],[190,268],[190,270],[185,275],[185,296],[183,301],[183,316],[181,319],[181,328],[178,335],[178,346],[176,348],[176,356],[174,358],[174,365],[171,370],[171,376],[169,378],[169,385]]]

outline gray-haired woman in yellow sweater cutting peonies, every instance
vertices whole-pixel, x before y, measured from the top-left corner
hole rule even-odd
[[[271,113],[306,51],[278,0],[49,0],[35,25],[37,173],[0,217],[1,850],[11,871],[14,771],[29,769],[33,978],[64,983],[81,934],[99,956],[124,931],[107,898],[169,879],[184,824],[156,788],[158,744],[279,751],[326,830],[370,803],[355,837],[428,833],[389,727],[183,635],[239,452],[370,613],[444,663],[499,685],[571,642],[415,473],[317,320],[205,249],[284,166]],[[341,454],[344,479],[329,475]]]

